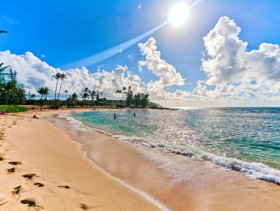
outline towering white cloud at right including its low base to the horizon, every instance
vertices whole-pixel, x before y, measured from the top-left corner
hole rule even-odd
[[[240,27],[221,17],[203,37],[206,51],[201,70],[206,81],[198,81],[193,95],[208,102],[263,102],[279,100],[280,48],[262,43],[259,50],[246,51],[247,42],[239,39]],[[206,85],[215,85],[208,90]]]

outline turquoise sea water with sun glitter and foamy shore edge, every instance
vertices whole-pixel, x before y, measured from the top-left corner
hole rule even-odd
[[[280,183],[280,108],[107,110],[73,117],[122,140]]]

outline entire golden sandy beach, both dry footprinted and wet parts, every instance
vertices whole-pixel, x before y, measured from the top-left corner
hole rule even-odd
[[[279,208],[279,185],[77,130],[68,111],[0,117],[1,210]]]

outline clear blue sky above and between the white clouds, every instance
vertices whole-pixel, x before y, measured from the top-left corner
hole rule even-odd
[[[0,30],[9,33],[0,36],[0,51],[10,50],[16,55],[30,51],[48,65],[59,68],[159,26],[168,20],[171,8],[178,2],[189,4],[193,1],[2,2]],[[192,93],[197,81],[207,79],[200,70],[202,51],[205,50],[203,36],[215,27],[221,17],[234,20],[241,28],[240,40],[247,41],[247,50],[251,51],[258,50],[264,42],[280,43],[279,14],[280,1],[201,0],[191,8],[183,26],[167,24],[140,42],[145,43],[151,36],[154,37],[161,59],[186,79],[183,86],[172,85],[166,90],[173,92],[180,88]],[[132,53],[133,61],[128,58]],[[86,68],[94,73],[99,65],[104,65],[106,71],[114,70],[116,65],[127,65],[128,70],[138,74],[143,82],[157,80],[158,77],[146,67],[139,72],[137,62],[142,59],[143,55],[140,55],[135,43],[121,53]],[[213,90],[215,85],[208,84],[207,88]]]

